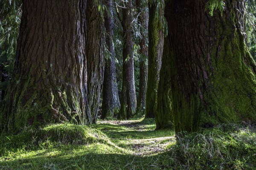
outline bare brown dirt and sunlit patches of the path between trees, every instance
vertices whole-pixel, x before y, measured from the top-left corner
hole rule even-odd
[[[155,131],[154,128],[149,128],[150,124],[143,124],[141,120],[126,120],[126,121],[116,121],[116,120],[105,120],[101,121],[101,124],[110,125],[120,125],[125,127],[131,134],[142,133],[146,134],[145,137],[138,137],[133,139],[132,137],[120,135],[119,140],[116,143],[120,147],[124,147],[127,150],[132,150],[135,155],[149,156],[158,153],[163,153],[168,150],[168,145],[174,144],[175,136],[166,136],[165,131]],[[107,130],[107,129],[106,129]],[[150,134],[154,133],[154,137]],[[158,134],[159,133],[159,134]],[[163,133],[163,137],[160,137]],[[157,137],[156,137],[157,136]],[[158,137],[159,136],[159,137]]]

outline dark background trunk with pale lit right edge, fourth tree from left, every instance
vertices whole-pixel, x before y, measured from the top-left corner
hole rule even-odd
[[[122,9],[122,27],[123,27],[123,82],[121,92],[121,107],[118,119],[129,119],[134,115],[137,107],[135,83],[134,83],[134,61],[133,61],[133,36],[131,22],[133,20],[131,0],[125,3]]]

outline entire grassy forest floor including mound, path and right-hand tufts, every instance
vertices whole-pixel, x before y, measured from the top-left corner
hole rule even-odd
[[[0,170],[171,170],[256,167],[256,127],[220,125],[183,133],[154,130],[154,119],[100,120],[26,128],[0,136]]]

